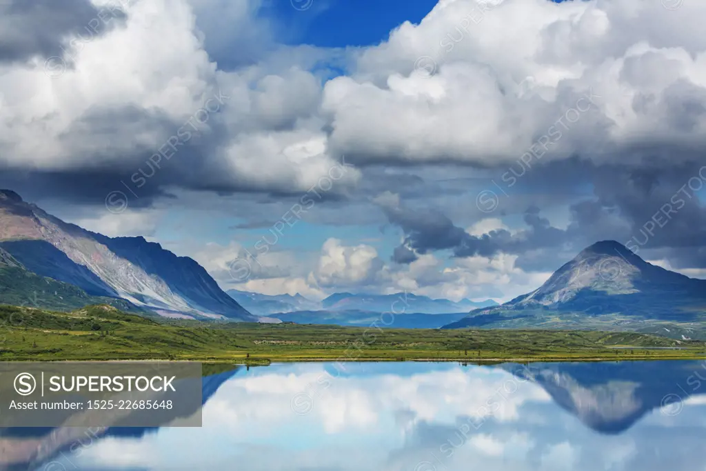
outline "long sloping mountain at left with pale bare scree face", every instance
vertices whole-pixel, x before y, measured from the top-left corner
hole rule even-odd
[[[162,316],[268,321],[229,297],[193,259],[143,237],[105,237],[68,224],[8,190],[0,190],[0,249],[39,277]]]

